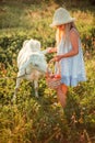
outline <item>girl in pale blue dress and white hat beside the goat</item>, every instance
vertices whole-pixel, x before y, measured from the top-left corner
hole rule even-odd
[[[57,47],[48,47],[48,53],[57,52],[51,59],[59,62],[61,69],[61,85],[57,89],[58,98],[62,107],[66,106],[68,87],[75,87],[80,81],[85,81],[85,67],[79,32],[74,25],[74,18],[59,8],[54,14],[51,28],[57,28]],[[56,73],[57,73],[56,64]]]

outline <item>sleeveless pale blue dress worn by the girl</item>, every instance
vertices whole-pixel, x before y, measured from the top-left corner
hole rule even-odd
[[[69,44],[69,46],[63,47],[63,45],[64,41],[62,37],[57,48],[58,55],[66,54],[72,50],[71,43]],[[61,84],[75,87],[80,81],[86,80],[83,52],[80,38],[79,38],[79,54],[72,57],[62,58],[59,64],[61,73]],[[59,70],[56,63],[56,73],[58,72]]]

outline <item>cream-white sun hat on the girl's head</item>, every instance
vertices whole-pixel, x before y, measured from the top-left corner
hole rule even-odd
[[[59,8],[56,10],[54,14],[52,23],[50,24],[50,26],[70,23],[73,22],[75,18],[71,18],[70,13],[66,9]]]

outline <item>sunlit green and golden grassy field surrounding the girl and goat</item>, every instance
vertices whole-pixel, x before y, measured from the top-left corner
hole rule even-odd
[[[55,46],[56,31],[49,24],[56,8],[61,6],[76,18],[87,81],[69,89],[64,110],[45,77],[39,79],[38,99],[33,84],[24,80],[13,103],[17,53],[28,38],[40,41],[41,50]],[[47,62],[52,56],[47,54]],[[0,0],[0,143],[95,143],[93,0]]]

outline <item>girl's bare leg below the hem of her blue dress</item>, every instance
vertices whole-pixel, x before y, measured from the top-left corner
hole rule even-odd
[[[66,86],[64,84],[61,84],[57,89],[58,100],[60,101],[63,108],[66,107],[67,92],[68,86]]]

